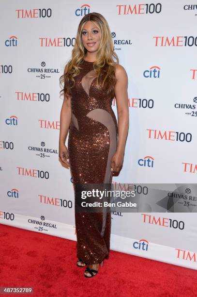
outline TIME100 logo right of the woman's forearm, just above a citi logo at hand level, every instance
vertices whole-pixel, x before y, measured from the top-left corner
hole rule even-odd
[[[169,141],[181,141],[181,142],[191,142],[192,134],[184,133],[184,132],[175,132],[175,131],[164,131],[154,130],[154,129],[146,129],[148,131],[148,138],[150,139],[161,139],[161,140],[169,140]]]

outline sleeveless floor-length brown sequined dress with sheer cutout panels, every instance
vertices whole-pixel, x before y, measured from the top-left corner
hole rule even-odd
[[[83,60],[80,67],[71,88],[68,157],[75,191],[77,258],[96,264],[108,258],[111,214],[77,212],[76,184],[111,184],[111,158],[117,148],[118,125],[111,108],[113,98],[106,96],[102,84],[96,84],[93,62]]]

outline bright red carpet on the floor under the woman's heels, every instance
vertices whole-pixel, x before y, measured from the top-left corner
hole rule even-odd
[[[0,286],[34,288],[34,297],[197,296],[197,271],[110,251],[87,279],[76,242],[0,224]]]

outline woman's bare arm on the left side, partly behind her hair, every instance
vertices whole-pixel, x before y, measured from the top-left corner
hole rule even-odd
[[[67,71],[67,65],[65,66],[65,72]],[[60,114],[60,137],[59,137],[59,157],[63,163],[70,166],[68,149],[65,146],[66,137],[69,131],[71,123],[71,99],[70,96],[65,96],[61,106]],[[67,161],[68,160],[68,161]]]

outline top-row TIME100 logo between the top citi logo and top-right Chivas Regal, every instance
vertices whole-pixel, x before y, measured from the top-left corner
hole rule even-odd
[[[151,4],[134,4],[134,5],[116,5],[118,15],[145,15],[145,14],[159,14],[162,10],[161,3]]]

